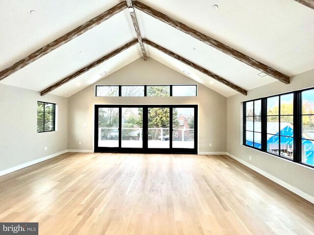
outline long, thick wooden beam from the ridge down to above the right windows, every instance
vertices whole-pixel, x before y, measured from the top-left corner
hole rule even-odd
[[[156,18],[157,20],[165,23],[165,24],[169,24],[170,26],[192,36],[193,38],[196,38],[198,39],[199,41],[203,42],[203,43],[206,43],[207,45],[211,46],[211,47],[214,47],[216,48],[217,50],[220,50],[221,52],[229,55],[229,56],[232,56],[233,58],[241,61],[242,63],[244,64],[247,64],[259,71],[262,71],[264,73],[266,73],[267,75],[273,77],[273,78],[276,78],[278,79],[279,81],[285,83],[285,84],[289,84],[290,83],[290,79],[287,75],[279,72],[279,71],[276,71],[274,70],[273,68],[271,67],[268,67],[264,64],[262,64],[261,62],[231,48],[231,47],[228,47],[227,45],[221,43],[221,42],[218,42],[217,40],[155,10],[154,8],[152,7],[149,7],[147,5],[145,5],[144,3],[140,2],[140,1],[134,1],[133,2],[133,5],[135,8],[139,9],[140,11]]]

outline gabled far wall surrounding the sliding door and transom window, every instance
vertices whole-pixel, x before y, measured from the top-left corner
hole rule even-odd
[[[95,84],[198,83],[152,58],[147,61],[140,58]],[[94,104],[199,104],[199,151],[226,152],[227,98],[223,95],[198,84],[196,97],[95,97],[95,84],[69,97],[69,149],[93,149]]]

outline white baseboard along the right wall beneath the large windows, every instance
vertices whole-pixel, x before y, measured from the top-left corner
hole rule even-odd
[[[306,192],[300,190],[299,188],[296,188],[292,185],[289,185],[288,183],[286,183],[285,181],[281,180],[281,179],[278,179],[277,177],[261,170],[260,168],[254,166],[254,165],[251,165],[247,162],[245,162],[244,160],[238,158],[238,157],[235,157],[234,155],[230,154],[230,153],[227,153],[227,156],[235,159],[236,161],[238,161],[239,163],[243,164],[243,165],[246,165],[247,167],[251,168],[252,170],[260,173],[261,175],[265,176],[266,178],[270,179],[271,181],[277,183],[278,185],[281,185],[282,187],[284,188],[287,188],[288,190],[290,190],[291,192],[294,192],[295,194],[299,195],[300,197],[304,198],[305,200],[311,202],[314,204],[314,197],[307,194]]]

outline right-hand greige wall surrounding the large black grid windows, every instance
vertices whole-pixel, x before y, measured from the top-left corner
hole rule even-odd
[[[247,96],[236,94],[227,99],[227,152],[271,174],[287,184],[314,196],[314,169],[262,153],[242,145],[242,102],[273,94],[314,87],[314,70],[291,77],[289,85],[274,82],[250,90]],[[252,156],[252,160],[249,160]]]

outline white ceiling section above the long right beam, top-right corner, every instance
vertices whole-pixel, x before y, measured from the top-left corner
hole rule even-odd
[[[141,1],[288,76],[314,68],[314,10],[294,0]]]

